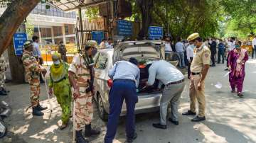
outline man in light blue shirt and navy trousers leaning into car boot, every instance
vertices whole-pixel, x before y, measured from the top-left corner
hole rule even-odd
[[[114,139],[124,99],[127,105],[127,142],[133,142],[137,137],[137,133],[135,132],[134,108],[138,102],[136,89],[139,85],[140,76],[137,59],[132,57],[129,59],[129,62],[116,62],[114,67],[110,69],[109,76],[114,82],[110,89],[110,115],[107,122],[105,143],[112,143]]]

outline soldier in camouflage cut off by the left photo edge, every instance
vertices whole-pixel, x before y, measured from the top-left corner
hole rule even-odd
[[[4,89],[4,84],[5,84],[5,71],[6,71],[7,67],[6,67],[6,62],[4,61],[4,56],[1,55],[0,57],[0,96],[6,96],[7,92]]]

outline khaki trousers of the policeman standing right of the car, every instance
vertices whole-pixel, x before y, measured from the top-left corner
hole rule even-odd
[[[191,76],[189,85],[189,96],[191,99],[190,110],[196,113],[196,99],[198,101],[198,116],[204,117],[206,112],[206,97],[205,97],[205,83],[201,82],[202,90],[198,91],[198,82],[200,80],[199,75]]]

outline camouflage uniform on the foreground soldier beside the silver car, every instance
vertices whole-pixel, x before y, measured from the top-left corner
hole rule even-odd
[[[75,74],[75,82],[80,91],[80,96],[75,99],[75,130],[82,130],[91,123],[93,116],[92,93],[85,91],[89,87],[90,69],[85,65],[84,57],[79,54],[73,57],[68,71]]]

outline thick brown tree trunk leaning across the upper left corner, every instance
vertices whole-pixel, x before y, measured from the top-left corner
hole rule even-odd
[[[40,0],[12,1],[0,17],[0,55],[9,46],[18,26],[36,7]]]

